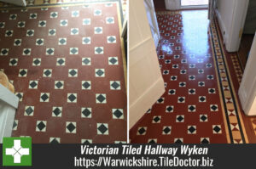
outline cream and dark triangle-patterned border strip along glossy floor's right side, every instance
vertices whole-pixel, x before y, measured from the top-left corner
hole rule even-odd
[[[247,135],[243,121],[241,119],[241,110],[237,106],[236,93],[232,81],[230,81],[230,70],[225,59],[223,44],[220,41],[219,30],[216,20],[212,20],[210,30],[212,37],[212,44],[214,48],[214,56],[217,62],[219,82],[221,86],[221,93],[224,101],[224,110],[228,128],[230,131],[231,144],[245,144],[247,143]]]

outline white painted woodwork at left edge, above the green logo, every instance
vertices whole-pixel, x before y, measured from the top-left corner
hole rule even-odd
[[[12,134],[19,98],[0,84],[0,143]]]

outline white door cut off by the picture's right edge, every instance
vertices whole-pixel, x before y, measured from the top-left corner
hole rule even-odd
[[[246,115],[256,115],[256,34],[253,45],[244,70],[241,85],[239,88],[239,98],[241,107]]]

